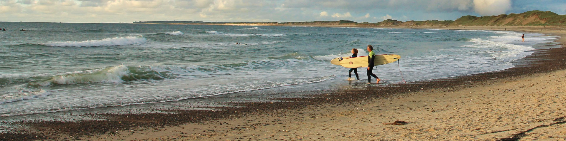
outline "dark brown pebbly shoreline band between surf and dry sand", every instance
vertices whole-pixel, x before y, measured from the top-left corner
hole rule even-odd
[[[252,25],[253,26],[253,25]],[[375,27],[374,27],[375,28]],[[388,27],[391,28],[391,27]],[[406,27],[403,27],[406,28]],[[426,27],[426,28],[431,28],[431,27]],[[524,28],[524,27],[516,27],[516,28]],[[462,28],[462,29],[465,29]],[[494,29],[477,29],[477,30],[494,30]],[[511,29],[510,29],[511,30]],[[523,30],[525,32],[537,32],[535,31],[537,29],[528,29],[528,30]],[[544,33],[544,32],[538,32],[538,33]],[[560,42],[559,45],[563,45],[564,44],[564,39],[563,37],[565,37],[565,33],[559,33],[559,32],[555,32],[555,33],[545,33],[545,34],[559,34],[560,35],[560,39],[556,40],[556,42]],[[564,46],[564,45],[563,45]],[[560,47],[560,48],[555,48],[555,49],[543,49],[543,50],[537,50],[534,52],[533,55],[529,55],[526,58],[520,59],[522,61],[529,61],[528,59],[533,59],[533,60],[537,60],[537,59],[546,59],[546,58],[554,58],[556,60],[566,60],[566,57],[561,57],[564,56],[566,54],[564,54],[563,52],[566,49],[563,49],[564,47]],[[118,139],[132,139],[132,138],[127,138],[132,137],[132,136],[140,136],[141,134],[149,134],[149,133],[156,133],[152,136],[146,136],[145,139],[148,138],[162,138],[162,136],[165,136],[167,138],[171,137],[171,138],[177,138],[174,136],[178,136],[178,133],[176,132],[171,132],[171,131],[166,131],[163,129],[169,129],[171,127],[177,127],[177,129],[179,129],[178,127],[181,126],[211,126],[212,125],[218,125],[219,123],[222,125],[223,122],[231,122],[233,120],[238,120],[240,119],[240,121],[242,122],[242,125],[245,125],[245,121],[242,121],[242,118],[248,118],[248,119],[254,119],[251,117],[259,117],[260,120],[265,120],[265,119],[261,119],[261,118],[267,118],[269,116],[273,116],[273,115],[278,115],[278,117],[289,117],[289,118],[294,118],[295,120],[298,119],[298,116],[285,116],[288,115],[289,113],[301,113],[301,114],[308,114],[308,109],[309,108],[316,108],[318,106],[321,107],[329,107],[329,108],[334,108],[334,109],[338,109],[338,111],[341,112],[347,112],[349,110],[346,109],[341,109],[340,106],[342,105],[349,105],[349,106],[354,106],[354,107],[359,107],[361,105],[359,105],[359,103],[363,103],[363,102],[368,102],[368,101],[372,101],[372,100],[383,100],[383,99],[395,99],[395,96],[406,96],[406,95],[414,95],[414,94],[422,94],[423,92],[435,92],[436,91],[456,91],[457,89],[466,89],[466,87],[478,87],[478,86],[483,86],[489,84],[489,85],[497,85],[494,84],[492,81],[513,81],[514,79],[520,79],[520,78],[525,78],[525,77],[533,77],[532,75],[536,74],[536,73],[548,73],[552,71],[560,71],[566,68],[566,65],[564,65],[564,63],[556,63],[554,62],[555,60],[537,60],[536,62],[531,62],[528,63],[529,65],[527,66],[521,66],[521,67],[517,67],[517,65],[514,68],[510,68],[510,69],[505,69],[505,70],[500,70],[500,71],[496,71],[496,72],[487,72],[487,73],[479,73],[479,74],[471,74],[468,76],[458,76],[458,77],[449,77],[449,78],[441,78],[441,79],[437,79],[437,80],[430,80],[430,81],[419,81],[419,82],[414,82],[414,83],[406,83],[406,84],[399,84],[399,87],[396,87],[397,85],[393,85],[390,87],[387,86],[371,86],[371,87],[363,87],[363,88],[358,88],[358,89],[353,89],[353,90],[337,90],[337,91],[331,91],[331,92],[324,92],[323,94],[319,94],[319,95],[315,95],[314,98],[304,98],[304,99],[283,99],[283,100],[288,100],[291,102],[276,102],[276,103],[237,103],[238,105],[243,105],[246,106],[246,108],[224,108],[225,111],[178,111],[178,113],[175,114],[122,114],[122,115],[104,115],[104,116],[108,116],[110,118],[113,118],[115,120],[113,121],[83,121],[83,122],[65,122],[65,121],[30,121],[27,122],[25,124],[27,125],[35,125],[33,130],[37,130],[37,133],[33,133],[33,134],[0,134],[0,136],[5,135],[8,138],[11,137],[16,137],[16,140],[18,140],[18,136],[20,137],[20,139],[22,138],[28,138],[28,139],[63,139],[66,140],[67,139],[95,139],[95,140],[106,140],[109,138],[114,138],[115,140]],[[552,67],[550,69],[547,69],[546,67]],[[526,73],[526,74],[520,74],[520,73]],[[495,80],[492,79],[494,78],[494,76],[496,76]],[[515,78],[518,77],[518,78]],[[424,89],[426,88],[426,89]],[[369,91],[369,90],[379,90],[381,92],[385,93],[380,93],[378,94],[375,91]],[[417,91],[417,92],[414,92]],[[325,95],[326,94],[326,95]],[[294,101],[294,102],[293,102]],[[354,103],[354,104],[353,104]],[[358,103],[358,104],[355,104]],[[391,106],[390,106],[391,107]],[[286,111],[288,110],[288,111]],[[274,112],[274,113],[272,113]],[[327,111],[327,114],[328,111]],[[330,113],[333,114],[333,113]],[[199,116],[200,115],[200,116]],[[295,114],[289,114],[289,115],[295,115]],[[206,116],[206,117],[203,117]],[[166,117],[164,119],[164,117]],[[196,117],[196,118],[195,118]],[[311,116],[312,117],[312,116]],[[302,117],[303,121],[307,119],[307,117]],[[316,119],[317,116],[314,116],[314,118]],[[230,120],[231,119],[231,120]],[[257,120],[257,118],[255,118]],[[273,122],[278,122],[275,121],[275,118],[273,118],[274,121]],[[183,121],[184,120],[184,121]],[[279,119],[280,120],[280,119]],[[315,122],[315,121],[313,121]],[[392,121],[391,121],[392,122]],[[408,121],[410,122],[410,121]],[[149,126],[140,126],[137,124],[145,124],[147,123]],[[192,124],[191,124],[192,123]],[[205,124],[201,124],[201,123],[205,123]],[[264,123],[264,122],[261,122]],[[269,122],[271,123],[271,122]],[[267,123],[267,124],[269,124]],[[259,123],[258,123],[259,124]],[[281,124],[274,124],[271,123],[273,126],[275,125],[281,125]],[[92,129],[92,126],[97,126],[96,129]],[[232,129],[234,130],[230,130],[230,131],[240,131],[240,130],[252,130],[250,129],[250,127],[248,128],[241,128],[242,126],[238,126],[238,125],[225,125],[226,129],[228,129],[229,126],[232,126]],[[264,125],[264,126],[268,126],[268,125]],[[150,130],[156,129],[157,128],[161,128],[161,129],[157,129],[158,131],[152,132]],[[255,127],[255,126],[254,126]],[[131,131],[129,129],[133,129],[134,131]],[[141,129],[141,130],[140,130]],[[177,130],[175,129],[175,130]],[[196,129],[196,128],[195,128]],[[202,137],[202,133],[206,133],[207,131],[204,130],[195,130],[192,129],[192,133],[185,131],[179,131],[183,134],[182,136],[187,136],[187,135],[195,135],[195,136],[200,136],[200,137],[195,137],[195,139],[203,139],[204,137]],[[88,131],[85,131],[88,130]],[[173,130],[173,129],[171,129]],[[228,130],[226,130],[227,132],[230,132]],[[305,131],[308,131],[308,129],[305,129]],[[110,133],[108,133],[110,132]],[[145,132],[145,133],[144,133]],[[213,133],[215,131],[212,131]],[[224,132],[224,131],[222,131]],[[280,131],[279,131],[280,132]],[[289,131],[284,131],[286,133],[289,133]],[[304,131],[303,131],[304,132]],[[46,134],[46,136],[42,136],[41,133],[49,133]],[[102,134],[102,133],[106,133],[106,134]],[[113,134],[114,133],[114,134]],[[130,134],[131,133],[131,134]],[[138,134],[135,134],[138,133]],[[157,134],[160,133],[160,134]],[[198,135],[198,134],[201,135]],[[39,137],[37,137],[37,135],[40,134]],[[118,138],[115,135],[124,135],[124,137],[120,137]],[[96,136],[89,136],[89,135],[96,135]],[[207,133],[207,135],[209,137],[214,136],[213,134],[209,134]],[[234,134],[234,136],[238,136],[239,134]],[[33,136],[36,136],[36,138],[33,138]],[[62,137],[62,136],[66,136],[66,137]],[[143,136],[143,135],[142,135]],[[220,135],[218,135],[220,136]],[[216,136],[216,137],[218,137]],[[237,138],[244,138],[244,137],[248,137],[249,135],[246,136],[240,136]],[[274,137],[274,136],[271,136]],[[7,139],[8,138],[4,138]],[[185,137],[183,137],[185,138]],[[14,138],[12,138],[14,139]],[[138,138],[135,138],[138,139]],[[143,138],[142,138],[143,139]],[[220,139],[220,138],[211,138],[213,140],[216,139]],[[234,139],[234,138],[226,138],[226,139]],[[250,138],[251,139],[251,138]],[[256,139],[256,138],[254,138]],[[306,139],[306,138],[305,138]],[[316,139],[316,138],[311,138],[311,139]],[[0,140],[3,140],[2,138],[0,138]],[[159,140],[159,139],[157,139]],[[171,139],[174,140],[174,139]],[[224,138],[222,138],[222,140],[225,140]],[[238,140],[238,139],[236,139]],[[243,140],[243,139],[241,139]]]

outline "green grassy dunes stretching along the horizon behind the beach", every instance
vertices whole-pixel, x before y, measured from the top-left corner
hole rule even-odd
[[[497,16],[462,16],[456,20],[398,21],[383,20],[378,23],[357,23],[350,20],[339,21],[299,21],[299,22],[204,22],[204,21],[136,21],[134,24],[238,24],[238,25],[297,25],[297,26],[397,26],[397,27],[455,27],[455,26],[566,26],[566,15],[551,11],[527,11],[521,14],[501,14]]]

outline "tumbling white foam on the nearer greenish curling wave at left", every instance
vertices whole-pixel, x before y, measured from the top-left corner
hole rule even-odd
[[[71,73],[53,76],[49,80],[35,82],[32,85],[48,86],[55,84],[76,84],[76,83],[121,83],[123,76],[130,74],[130,70],[125,65],[118,65],[96,72],[90,73]]]

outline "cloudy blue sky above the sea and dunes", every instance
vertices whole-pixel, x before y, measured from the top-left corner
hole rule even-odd
[[[530,10],[566,14],[564,0],[0,0],[0,21],[456,20]]]

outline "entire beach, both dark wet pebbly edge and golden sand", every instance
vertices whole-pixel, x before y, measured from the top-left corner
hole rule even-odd
[[[501,28],[566,34],[566,28],[449,27]],[[18,124],[29,129],[0,133],[0,140],[564,140],[566,48],[551,47],[497,72],[238,103],[246,107],[222,111],[27,121]],[[396,120],[409,124],[384,125]]]

